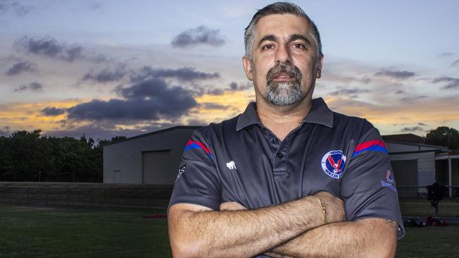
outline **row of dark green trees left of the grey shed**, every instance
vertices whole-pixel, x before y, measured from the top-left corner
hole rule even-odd
[[[10,137],[0,136],[1,181],[34,181],[38,180],[38,173],[42,180],[53,180],[68,173],[79,182],[102,182],[102,147],[126,139],[117,136],[96,142],[85,135],[78,140],[40,133],[41,130],[23,130]]]

